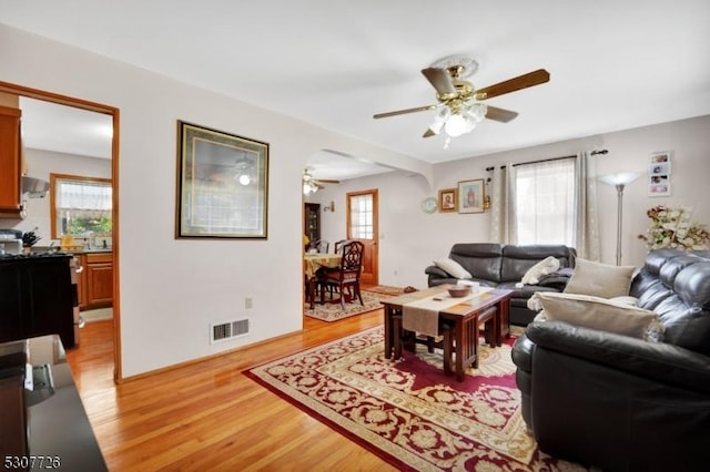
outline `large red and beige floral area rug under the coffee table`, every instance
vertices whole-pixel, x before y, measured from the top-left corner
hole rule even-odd
[[[463,382],[423,348],[384,359],[383,328],[244,373],[405,471],[584,471],[537,449],[520,415],[511,340]]]

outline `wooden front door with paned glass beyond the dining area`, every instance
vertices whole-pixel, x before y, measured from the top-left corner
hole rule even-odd
[[[363,243],[363,271],[361,281],[364,285],[378,284],[377,264],[377,189],[351,192],[347,199],[347,239]]]

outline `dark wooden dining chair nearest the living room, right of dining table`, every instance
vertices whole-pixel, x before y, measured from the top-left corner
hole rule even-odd
[[[345,289],[347,288],[351,301],[357,297],[359,304],[363,302],[363,296],[359,291],[359,275],[363,269],[363,252],[364,245],[361,242],[348,242],[342,247],[343,258],[337,269],[328,270],[321,275],[321,302],[325,302],[325,290],[331,291],[331,299],[333,299],[333,291],[336,290],[341,294],[341,307],[345,309]]]

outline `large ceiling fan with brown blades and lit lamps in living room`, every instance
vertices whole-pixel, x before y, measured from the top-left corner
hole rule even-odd
[[[464,80],[478,70],[478,62],[466,55],[452,55],[435,62],[432,66],[422,70],[424,76],[436,90],[438,103],[405,109],[394,112],[378,113],[374,119],[397,116],[407,113],[417,113],[435,110],[434,122],[426,130],[423,137],[434,136],[444,130],[448,137],[460,136],[469,133],[483,119],[508,123],[518,113],[483,103],[485,100],[506,93],[539,85],[550,80],[550,74],[545,69],[538,69],[527,74],[476,90],[474,85]]]

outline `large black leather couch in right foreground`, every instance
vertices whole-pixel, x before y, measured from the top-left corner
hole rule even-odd
[[[630,295],[662,342],[535,321],[513,360],[539,448],[609,471],[710,470],[710,253],[651,252]]]

